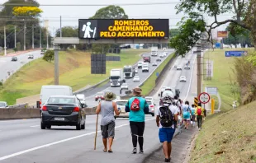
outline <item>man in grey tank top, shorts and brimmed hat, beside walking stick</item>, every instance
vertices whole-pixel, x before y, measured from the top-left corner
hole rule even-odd
[[[120,112],[117,109],[116,103],[112,100],[116,99],[116,95],[113,92],[107,92],[104,95],[105,100],[102,100],[97,105],[96,114],[102,113],[101,130],[102,130],[102,142],[104,145],[103,151],[107,151],[107,139],[108,139],[108,152],[113,152],[111,149],[113,139],[115,137],[115,115],[119,115]]]

